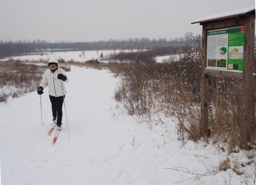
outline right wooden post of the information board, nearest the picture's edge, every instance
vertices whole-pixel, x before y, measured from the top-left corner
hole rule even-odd
[[[244,70],[242,74],[242,112],[241,146],[247,147],[250,142],[252,78],[253,78],[253,47],[254,47],[255,13],[246,15],[244,33]]]

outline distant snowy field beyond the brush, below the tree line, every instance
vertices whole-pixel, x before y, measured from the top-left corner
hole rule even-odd
[[[93,51],[84,51],[85,55],[83,57],[83,54],[81,51],[72,51],[72,52],[53,52],[53,53],[49,53],[49,54],[45,54],[45,55],[25,55],[25,56],[15,56],[12,57],[12,59],[19,59],[22,61],[25,60],[29,60],[29,61],[37,61],[38,59],[44,59],[44,60],[48,60],[51,57],[56,57],[58,59],[64,59],[65,61],[69,61],[71,59],[74,59],[76,62],[84,62],[87,61],[89,59],[99,59],[101,53],[104,56],[107,56],[111,53],[118,53],[121,50],[93,50]],[[129,52],[131,50],[122,50],[125,52]],[[137,50],[132,50],[133,52],[136,52]],[[80,57],[81,55],[81,57]],[[0,61],[6,61],[9,60],[11,58],[5,58],[5,59],[1,59]],[[166,56],[158,56],[156,57],[157,62],[162,62],[163,59],[175,59],[173,55],[166,55]],[[108,61],[101,61],[101,62],[108,62]]]

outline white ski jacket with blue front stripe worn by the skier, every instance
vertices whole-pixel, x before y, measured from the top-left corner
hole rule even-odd
[[[54,73],[51,72],[50,69],[48,69],[44,72],[44,75],[40,84],[40,86],[44,88],[47,87],[47,84],[48,84],[49,95],[55,96],[55,97],[63,96],[63,95],[66,95],[67,93],[63,82],[65,83],[68,82],[68,77],[65,81],[59,80],[57,78],[58,74],[63,74],[67,77],[65,71],[62,68],[58,67],[58,69]]]

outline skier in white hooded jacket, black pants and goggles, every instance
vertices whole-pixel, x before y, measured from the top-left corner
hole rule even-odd
[[[48,84],[48,93],[53,112],[53,123],[57,124],[57,130],[61,130],[62,124],[62,105],[66,95],[66,89],[63,81],[68,82],[68,77],[63,69],[58,68],[58,60],[50,59],[48,69],[44,72],[40,87],[37,93],[41,95]]]

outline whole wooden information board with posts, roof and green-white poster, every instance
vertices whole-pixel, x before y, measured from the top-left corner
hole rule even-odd
[[[209,135],[209,75],[242,79],[241,147],[250,142],[255,7],[202,18],[200,134]]]

